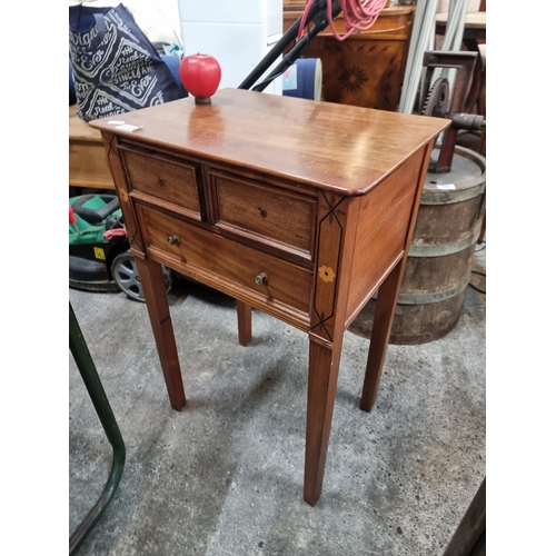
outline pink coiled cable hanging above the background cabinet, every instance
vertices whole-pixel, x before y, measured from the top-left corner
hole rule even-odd
[[[308,0],[305,7],[301,24],[297,34],[298,40],[302,37],[307,14],[315,0]],[[334,26],[332,18],[332,0],[327,0],[328,23],[332,30],[332,34],[338,40],[345,40],[355,31],[366,31],[375,24],[378,14],[386,6],[387,0],[338,0],[338,4],[344,12],[344,21],[346,22],[346,33],[339,34]]]

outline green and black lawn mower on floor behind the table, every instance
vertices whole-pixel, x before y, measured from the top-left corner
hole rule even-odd
[[[141,280],[115,193],[69,199],[69,285],[87,291],[123,291],[145,301]],[[171,271],[162,267],[168,290]]]

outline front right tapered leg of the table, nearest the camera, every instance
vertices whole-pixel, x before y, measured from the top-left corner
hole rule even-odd
[[[341,339],[331,349],[310,339],[304,499],[311,506],[322,489],[340,353]]]

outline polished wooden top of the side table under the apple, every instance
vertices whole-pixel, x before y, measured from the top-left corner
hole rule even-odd
[[[111,120],[140,126],[116,129]],[[364,195],[449,120],[240,89],[209,105],[192,97],[90,122],[101,131],[289,181]]]

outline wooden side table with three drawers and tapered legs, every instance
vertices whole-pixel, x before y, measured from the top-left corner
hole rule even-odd
[[[446,119],[222,89],[90,125],[105,141],[171,406],[186,404],[161,265],[309,336],[304,498],[318,500],[344,331],[380,286],[373,407],[435,137]]]

